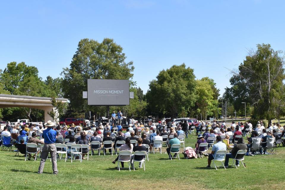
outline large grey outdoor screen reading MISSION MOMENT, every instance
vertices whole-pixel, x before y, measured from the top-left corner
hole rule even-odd
[[[129,80],[88,79],[88,105],[129,105]]]

